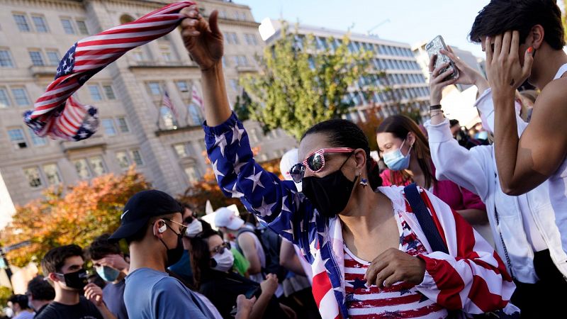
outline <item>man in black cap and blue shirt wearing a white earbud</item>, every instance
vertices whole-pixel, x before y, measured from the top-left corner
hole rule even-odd
[[[126,276],[124,303],[130,318],[214,318],[205,303],[165,269],[184,252],[181,241],[186,226],[179,203],[163,191],[140,191],[124,206],[120,228],[108,238],[125,238],[130,247],[130,272]],[[244,297],[244,296],[242,296]],[[239,301],[247,318],[252,301]]]

